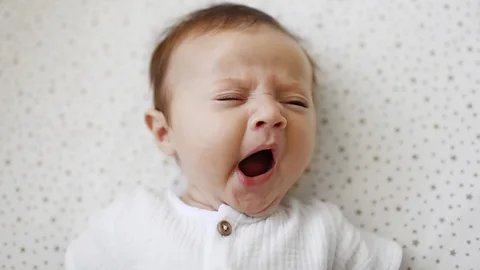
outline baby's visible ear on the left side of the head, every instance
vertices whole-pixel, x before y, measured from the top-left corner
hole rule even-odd
[[[155,109],[149,109],[145,113],[145,123],[155,137],[155,142],[160,150],[168,156],[175,156],[175,147],[169,138],[171,129],[165,115]]]

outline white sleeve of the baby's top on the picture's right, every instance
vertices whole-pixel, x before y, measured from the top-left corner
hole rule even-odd
[[[398,270],[402,249],[393,241],[354,227],[330,205],[335,226],[334,270]]]

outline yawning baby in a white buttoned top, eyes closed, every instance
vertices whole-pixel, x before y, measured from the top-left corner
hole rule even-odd
[[[398,269],[394,242],[287,192],[311,162],[312,59],[274,18],[238,4],[189,14],[153,52],[158,147],[187,188],[139,188],[92,219],[67,270]]]

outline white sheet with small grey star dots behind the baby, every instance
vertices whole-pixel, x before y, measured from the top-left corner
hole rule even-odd
[[[143,123],[148,60],[213,2],[0,0],[0,269],[63,269],[120,192],[182,188]],[[402,269],[480,269],[480,2],[243,3],[320,67],[316,156],[294,192],[398,241]]]

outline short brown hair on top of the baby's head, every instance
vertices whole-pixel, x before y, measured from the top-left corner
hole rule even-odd
[[[199,9],[185,16],[179,23],[166,29],[164,38],[153,51],[150,60],[150,82],[153,88],[155,109],[168,117],[168,95],[165,89],[165,75],[173,50],[190,34],[205,34],[212,31],[251,27],[265,24],[280,30],[300,42],[301,39],[285,29],[275,18],[258,9],[241,4],[223,3]],[[313,85],[316,85],[316,65],[312,57],[304,50],[313,70]]]

